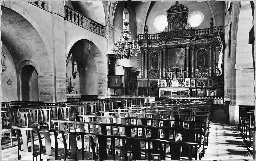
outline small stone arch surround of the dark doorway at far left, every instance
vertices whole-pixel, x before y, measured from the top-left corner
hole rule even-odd
[[[20,63],[20,65],[18,66],[17,68],[17,94],[18,94],[18,100],[20,100],[22,98],[22,89],[21,89],[21,72],[22,72],[22,69],[23,67],[25,66],[33,66],[35,68],[35,70],[37,71],[37,73],[39,73],[39,68],[38,68],[38,65],[30,60],[25,60],[23,62]],[[32,74],[32,73],[31,73]],[[38,77],[38,82],[39,82],[39,77]],[[38,83],[38,91],[40,91],[40,83]],[[40,93],[38,93],[38,96],[39,96],[39,100],[40,100]]]

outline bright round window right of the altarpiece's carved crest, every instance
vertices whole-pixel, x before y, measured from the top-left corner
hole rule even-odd
[[[198,27],[204,21],[204,14],[201,11],[195,10],[188,14],[187,22],[191,27]]]

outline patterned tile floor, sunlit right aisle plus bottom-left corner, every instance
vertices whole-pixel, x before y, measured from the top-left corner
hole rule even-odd
[[[252,160],[243,142],[237,126],[230,126],[224,110],[215,110],[210,124],[209,146],[202,160]],[[17,144],[14,142],[14,145]],[[36,141],[36,144],[37,141]],[[2,141],[3,160],[17,160],[17,146],[10,147],[8,141]],[[7,148],[7,149],[6,149]],[[22,160],[32,160],[31,156],[24,156]],[[38,158],[39,159],[39,158]]]

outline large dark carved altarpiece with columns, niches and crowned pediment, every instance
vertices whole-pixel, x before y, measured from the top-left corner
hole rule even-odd
[[[137,35],[141,48],[137,57],[139,95],[224,95],[224,83],[216,66],[222,26],[209,23],[208,29],[193,29],[181,18],[187,17],[187,11],[186,6],[177,3],[167,10],[168,26],[163,32],[148,34],[147,29]],[[204,30],[207,32],[200,34]]]

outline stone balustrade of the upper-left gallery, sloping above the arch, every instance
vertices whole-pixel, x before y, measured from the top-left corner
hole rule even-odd
[[[69,8],[65,7],[65,20],[70,21],[78,26],[81,26],[87,30],[90,30],[96,34],[105,37],[105,26],[91,20],[88,17],[85,17],[81,13]]]

